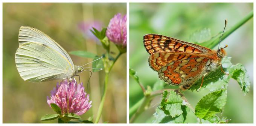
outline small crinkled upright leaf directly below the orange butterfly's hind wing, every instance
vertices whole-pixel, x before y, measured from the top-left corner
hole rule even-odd
[[[164,91],[162,102],[160,103],[160,108],[166,115],[171,115],[172,117],[176,117],[183,113],[181,109],[181,105],[183,103],[183,99],[181,99],[180,95],[176,95],[174,91]]]

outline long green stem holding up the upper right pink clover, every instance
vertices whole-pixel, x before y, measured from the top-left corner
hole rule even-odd
[[[106,94],[107,94],[107,89],[108,89],[109,72],[111,71],[111,69],[113,68],[116,60],[120,57],[121,54],[122,53],[119,52],[119,54],[116,56],[113,63],[111,64],[110,68],[108,69],[108,72],[105,71],[104,93],[103,93],[103,96],[101,98],[101,103],[99,104],[99,110],[98,110],[97,117],[96,117],[96,120],[95,120],[94,123],[99,123],[99,119],[101,118],[102,109],[103,109],[103,106],[104,106],[104,102],[105,102]]]

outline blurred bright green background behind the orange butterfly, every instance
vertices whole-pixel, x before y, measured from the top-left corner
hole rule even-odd
[[[189,42],[190,35],[203,28],[210,28],[215,36],[224,28],[227,19],[229,29],[249,12],[253,3],[130,3],[130,68],[137,71],[141,83],[152,86],[157,80],[157,72],[148,66],[149,54],[143,46],[143,35],[162,34]],[[231,80],[228,87],[227,104],[220,117],[232,119],[230,123],[253,123],[253,19],[230,34],[220,44],[226,48],[231,62],[242,63],[251,80],[250,92],[244,96],[238,83]],[[214,49],[218,49],[215,47]],[[130,78],[130,108],[143,98],[139,85]],[[184,95],[195,107],[200,98],[209,92],[191,92]],[[134,123],[152,123],[153,113],[159,105],[161,96],[155,97],[148,110],[144,111]],[[197,123],[190,111],[185,123]]]

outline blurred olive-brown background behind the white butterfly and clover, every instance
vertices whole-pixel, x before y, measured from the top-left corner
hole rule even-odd
[[[85,50],[101,55],[105,50],[96,39],[82,32],[82,26],[99,24],[107,27],[116,13],[126,14],[126,3],[3,3],[3,123],[57,123],[57,120],[40,121],[45,114],[55,113],[47,104],[46,96],[58,81],[31,83],[23,81],[15,66],[14,55],[18,48],[18,31],[31,26],[43,31],[67,52]],[[81,24],[82,23],[82,24]],[[101,29],[98,29],[101,30]],[[112,44],[113,53],[118,52]],[[70,55],[75,65],[92,61]],[[91,67],[91,64],[88,65]],[[104,72],[93,73],[89,89],[90,72],[82,72],[81,82],[90,94],[92,107],[81,117],[96,118],[104,89]],[[78,78],[76,78],[78,80]],[[121,55],[110,72],[108,92],[100,123],[126,123],[126,54]]]

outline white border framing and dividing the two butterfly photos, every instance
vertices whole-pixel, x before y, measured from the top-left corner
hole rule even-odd
[[[5,2],[37,2],[37,3],[40,3],[40,2],[44,2],[44,3],[47,3],[47,2],[57,2],[57,3],[63,3],[63,2],[66,2],[66,3],[73,3],[73,2],[79,2],[79,3],[91,3],[91,0],[2,0],[3,3]],[[129,34],[129,21],[130,21],[130,16],[129,16],[129,10],[130,10],[130,5],[129,3],[138,3],[138,2],[145,2],[145,3],[170,3],[170,2],[174,2],[174,3],[189,3],[189,2],[192,2],[192,3],[199,3],[199,2],[207,2],[207,3],[216,3],[216,2],[232,2],[232,3],[236,3],[236,2],[242,2],[242,3],[254,3],[254,0],[94,0],[93,1],[94,3],[126,3],[126,15],[127,15],[127,52],[126,52],[126,57],[127,57],[127,60],[126,60],[126,124],[76,124],[76,125],[101,125],[101,126],[145,126],[145,124],[129,124],[129,59],[130,59],[130,44],[129,44],[129,40],[130,40],[130,34]],[[1,15],[1,26],[0,26],[0,36],[1,36],[1,44],[3,45],[3,3],[0,4],[1,6],[1,10],[0,10],[0,15]],[[253,5],[254,8],[256,7],[256,5],[254,4]],[[255,10],[254,10],[255,12]],[[254,32],[254,38],[255,38],[255,20],[253,21],[254,23],[254,29],[253,29],[253,32]],[[253,38],[253,42],[255,41],[255,39]],[[254,48],[256,48],[256,44],[254,43],[253,45]],[[1,59],[3,60],[3,46],[0,46],[0,57]],[[253,54],[254,54],[254,64],[256,63],[255,62],[255,59],[256,59],[256,51],[254,50],[253,51]],[[0,69],[1,69],[1,72],[0,72],[0,94],[1,94],[1,97],[0,97],[0,112],[1,112],[1,115],[0,115],[0,123],[2,124],[3,123],[3,61],[0,62]],[[253,71],[255,72],[256,71],[256,67],[253,68]],[[254,74],[253,75],[254,78],[256,78],[256,75]],[[255,84],[256,80],[254,79],[254,84]],[[253,89],[255,90],[255,86],[253,87]],[[254,103],[254,106],[256,105],[255,104],[255,100],[256,100],[256,96],[255,96],[255,93],[253,94],[253,103]],[[253,109],[253,120],[254,122],[256,122],[256,110],[255,110],[255,107]],[[17,125],[20,125],[20,126],[35,126],[35,125],[63,125],[63,124],[3,124],[3,126],[17,126]],[[65,125],[74,125],[74,124],[65,124]],[[170,126],[170,125],[173,125],[173,126],[184,126],[184,124],[146,124],[148,126],[159,126],[159,125],[164,125],[164,126]],[[198,126],[198,124],[186,124],[186,125],[190,125],[190,126]],[[204,124],[204,125],[207,125],[207,126],[216,126],[216,124]],[[241,126],[241,124],[219,124],[219,125],[232,125],[232,126]],[[244,126],[253,126],[253,124],[242,124]]]

